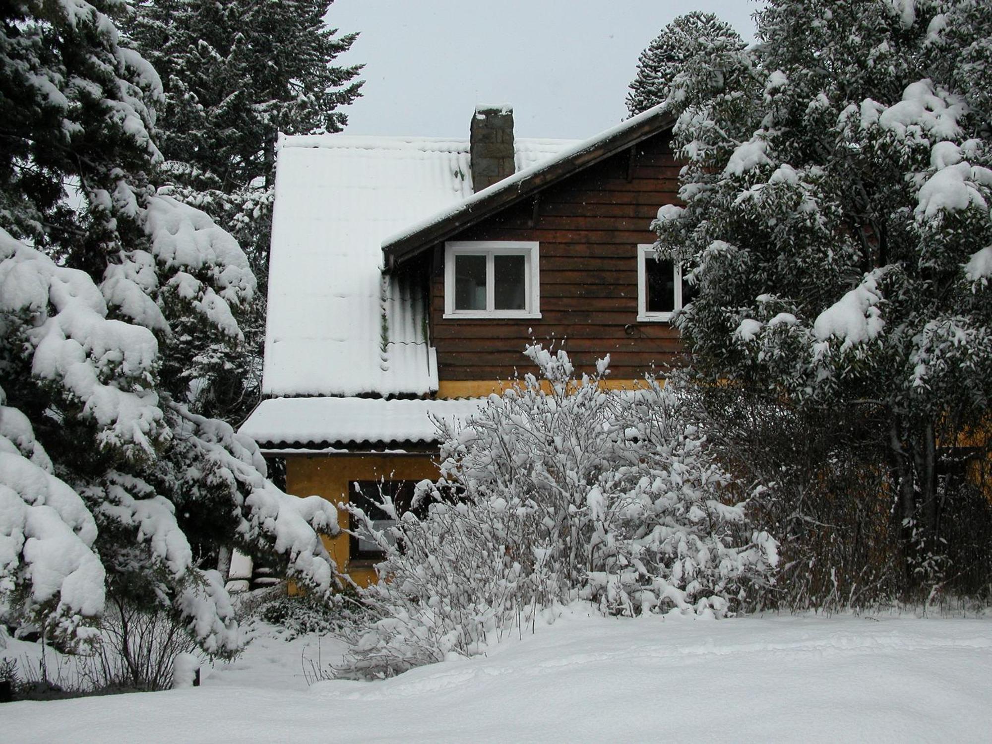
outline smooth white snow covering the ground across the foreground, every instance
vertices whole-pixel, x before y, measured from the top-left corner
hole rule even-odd
[[[309,646],[308,646],[309,644]],[[306,647],[306,648],[305,648]],[[10,651],[10,650],[8,650]],[[339,647],[324,641],[327,662]],[[485,658],[307,685],[258,639],[199,687],[15,702],[10,742],[989,741],[992,621],[566,613]]]

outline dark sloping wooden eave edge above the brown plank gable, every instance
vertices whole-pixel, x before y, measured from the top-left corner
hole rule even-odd
[[[446,240],[460,230],[471,227],[486,217],[516,201],[527,198],[548,186],[552,186],[566,176],[589,168],[620,151],[633,147],[658,132],[671,129],[676,117],[666,111],[658,111],[635,125],[611,133],[599,142],[590,144],[587,150],[553,161],[524,179],[509,184],[490,186],[491,193],[472,200],[464,208],[426,226],[422,230],[405,235],[383,245],[386,271],[422,253],[431,246]]]

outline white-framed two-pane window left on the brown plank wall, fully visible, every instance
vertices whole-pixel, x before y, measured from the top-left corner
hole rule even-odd
[[[541,317],[537,242],[444,244],[444,317]]]

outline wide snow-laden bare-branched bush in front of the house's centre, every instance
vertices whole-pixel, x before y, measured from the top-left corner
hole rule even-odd
[[[770,581],[776,541],[753,528],[739,486],[653,381],[617,392],[576,380],[563,351],[527,350],[544,379],[493,395],[442,431],[441,474],[422,482],[360,592],[374,622],[344,673],[391,676],[479,653],[577,599],[610,614],[722,617]],[[364,518],[359,510],[354,512]],[[421,516],[418,516],[420,513]]]

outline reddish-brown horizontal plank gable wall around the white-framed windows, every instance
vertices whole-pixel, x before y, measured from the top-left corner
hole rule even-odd
[[[540,194],[538,218],[526,199],[451,240],[537,240],[541,244],[540,319],[444,318],[442,259],[431,278],[431,338],[438,378],[506,380],[534,371],[521,353],[531,338],[563,347],[578,372],[610,354],[610,377],[664,372],[682,358],[669,323],[637,321],[637,246],[662,204],[679,203],[680,166],[660,134]],[[630,178],[628,179],[628,176]],[[443,256],[443,246],[435,251]]]

